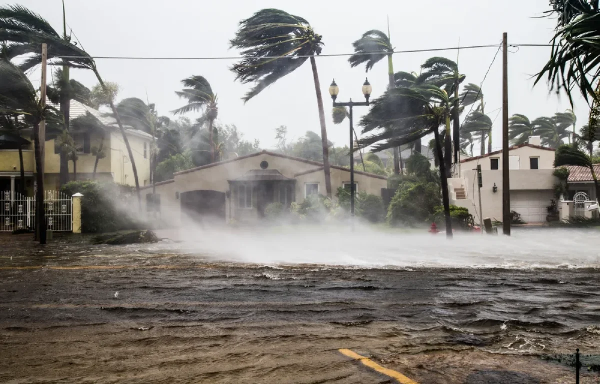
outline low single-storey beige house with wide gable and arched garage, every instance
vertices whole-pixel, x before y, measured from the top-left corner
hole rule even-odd
[[[350,186],[350,170],[331,166],[331,184],[335,191]],[[355,171],[358,193],[382,196],[387,187],[385,176]],[[152,211],[155,199],[161,217],[170,226],[181,225],[182,217],[218,221],[255,221],[265,215],[270,203],[289,207],[313,194],[326,194],[323,164],[273,152],[262,151],[233,160],[221,161],[184,172],[173,180],[143,188],[146,208]]]

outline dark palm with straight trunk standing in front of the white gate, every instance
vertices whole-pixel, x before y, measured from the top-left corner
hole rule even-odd
[[[52,132],[52,121],[56,124],[59,119],[52,114],[51,107],[44,107],[25,73],[11,64],[11,62],[0,59],[0,113],[9,115],[23,115],[25,124],[34,127],[34,152],[37,177],[36,220],[40,244],[46,244],[46,217],[44,210],[44,159],[42,157],[40,143],[40,124],[49,120],[47,130]],[[56,131],[56,128],[55,128]]]

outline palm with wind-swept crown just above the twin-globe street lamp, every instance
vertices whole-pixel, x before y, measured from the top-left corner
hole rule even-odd
[[[389,28],[386,35],[382,31],[373,29],[365,32],[359,40],[352,43],[355,55],[350,56],[348,61],[352,68],[364,64],[368,71],[372,70],[375,64],[383,58],[388,58],[388,88],[395,88],[394,79],[394,46],[390,40]],[[400,148],[394,148],[394,173],[400,174]]]

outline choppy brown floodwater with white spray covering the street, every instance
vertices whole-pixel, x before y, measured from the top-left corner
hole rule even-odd
[[[599,231],[188,229],[0,237],[0,382],[574,382],[600,353]],[[596,383],[585,373],[583,383]]]

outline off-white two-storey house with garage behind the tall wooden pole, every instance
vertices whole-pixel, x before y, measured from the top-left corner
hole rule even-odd
[[[546,207],[556,199],[554,152],[540,145],[539,136],[509,149],[511,211],[521,214],[526,223],[545,223]],[[478,165],[482,170],[483,212],[479,212]],[[461,161],[460,177],[448,179],[450,203],[469,209],[477,223],[481,217],[502,221],[502,170],[502,151]]]

